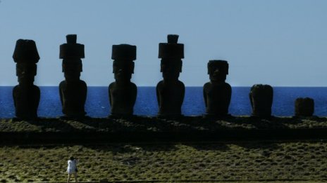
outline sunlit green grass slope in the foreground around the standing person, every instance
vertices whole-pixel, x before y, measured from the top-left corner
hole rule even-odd
[[[211,142],[0,147],[0,182],[327,180],[327,142]]]

